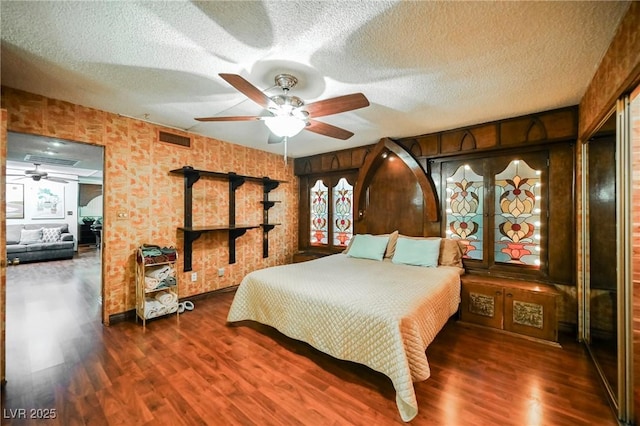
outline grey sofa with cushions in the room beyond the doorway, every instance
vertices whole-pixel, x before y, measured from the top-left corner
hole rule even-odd
[[[70,259],[75,238],[66,223],[7,224],[7,259],[19,262]]]

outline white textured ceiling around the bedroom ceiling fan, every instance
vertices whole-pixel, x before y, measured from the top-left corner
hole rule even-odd
[[[263,90],[292,73],[307,103],[367,96],[318,119],[351,139],[303,131],[299,157],[576,105],[628,5],[2,1],[1,82],[277,153],[261,121],[194,120],[260,114],[218,73]]]

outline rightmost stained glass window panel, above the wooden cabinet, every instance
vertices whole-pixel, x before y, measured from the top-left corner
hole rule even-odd
[[[540,266],[540,175],[514,160],[495,176],[495,262]]]

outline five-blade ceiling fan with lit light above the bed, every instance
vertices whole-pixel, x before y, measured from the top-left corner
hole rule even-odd
[[[237,74],[219,74],[227,83],[243,93],[253,102],[264,108],[265,114],[260,116],[242,115],[235,117],[201,117],[198,121],[252,121],[262,120],[271,130],[269,143],[287,142],[302,130],[320,135],[346,140],[353,132],[315,120],[318,117],[352,111],[369,106],[369,101],[362,93],[338,96],[310,104],[305,104],[297,96],[289,95],[289,90],[298,83],[291,74],[278,74],[275,82],[284,92],[280,95],[267,96],[260,89]]]

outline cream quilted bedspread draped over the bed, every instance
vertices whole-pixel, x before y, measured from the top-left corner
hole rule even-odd
[[[272,326],[385,374],[401,418],[410,421],[418,413],[413,382],[429,378],[425,350],[458,310],[463,269],[441,262],[436,267],[397,263],[388,248],[379,260],[349,250],[249,273],[227,320]]]

